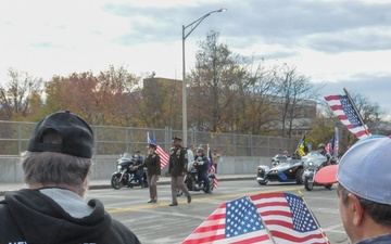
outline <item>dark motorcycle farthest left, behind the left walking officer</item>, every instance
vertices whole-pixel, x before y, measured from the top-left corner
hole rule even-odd
[[[117,160],[117,171],[112,174],[111,185],[118,190],[123,187],[134,188],[141,187],[148,188],[146,169],[142,169],[141,182],[138,182],[136,179],[136,169],[134,169],[136,164],[136,158],[129,154],[124,153],[121,155],[121,158]]]

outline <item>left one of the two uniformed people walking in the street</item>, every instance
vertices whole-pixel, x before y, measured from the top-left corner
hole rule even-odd
[[[153,143],[148,144],[149,154],[146,156],[144,162],[141,165],[136,166],[147,167],[147,181],[149,185],[150,192],[150,201],[148,203],[156,203],[157,202],[157,185],[156,182],[159,180],[159,176],[161,175],[161,162],[160,156],[155,153],[157,145]]]

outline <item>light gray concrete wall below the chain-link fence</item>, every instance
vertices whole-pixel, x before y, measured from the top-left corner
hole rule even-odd
[[[111,179],[111,175],[116,170],[118,155],[99,155],[93,158],[91,179]],[[223,157],[223,162],[217,165],[218,175],[245,175],[254,174],[258,165],[272,165],[269,157]],[[162,176],[167,171],[167,166],[162,170]],[[0,157],[0,183],[1,182],[23,182],[23,170],[18,156]]]

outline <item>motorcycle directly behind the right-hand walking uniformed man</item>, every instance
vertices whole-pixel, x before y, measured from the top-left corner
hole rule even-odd
[[[202,157],[198,157],[195,162],[193,162],[192,164],[190,164],[188,166],[188,174],[185,176],[185,185],[189,191],[204,191],[207,192],[207,189],[204,185],[203,180],[199,179],[199,174],[197,168],[199,167],[203,167],[204,166],[204,162],[202,160]],[[210,171],[207,174],[207,179],[210,182],[210,192],[213,191],[213,181],[215,178],[215,174]]]

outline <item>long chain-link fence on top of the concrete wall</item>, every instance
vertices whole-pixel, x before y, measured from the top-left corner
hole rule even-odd
[[[0,155],[20,155],[27,150],[28,139],[35,123],[0,121]],[[91,126],[96,137],[94,155],[118,155],[136,150],[147,152],[147,134],[153,138],[166,152],[174,136],[180,130],[141,129],[131,127]],[[300,138],[261,137],[252,134],[212,133],[189,131],[188,144],[206,150],[210,144],[225,156],[274,156],[288,150],[294,152]]]

